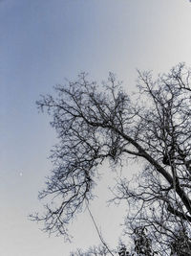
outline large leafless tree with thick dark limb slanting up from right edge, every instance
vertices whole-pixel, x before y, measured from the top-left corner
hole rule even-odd
[[[127,200],[126,232],[144,227],[159,255],[169,255],[177,230],[190,239],[191,87],[184,64],[154,80],[138,71],[138,99],[131,101],[116,77],[98,86],[86,74],[55,87],[57,97],[37,105],[53,116],[59,142],[53,175],[39,198],[50,198],[45,230],[68,237],[67,224],[94,198],[97,170],[128,157],[144,165],[134,182],[118,179],[114,200]],[[124,170],[125,175],[125,170]]]

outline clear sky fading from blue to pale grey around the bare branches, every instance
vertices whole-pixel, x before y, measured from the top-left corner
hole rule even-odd
[[[87,213],[71,227],[74,244],[48,238],[27,219],[40,207],[37,192],[50,174],[55,142],[49,118],[36,109],[39,95],[81,71],[97,81],[113,71],[128,91],[137,68],[191,66],[190,28],[186,0],[0,1],[0,255],[67,256],[75,246],[98,243]],[[123,209],[104,209],[108,185],[105,179],[98,187],[92,211],[113,244]]]

